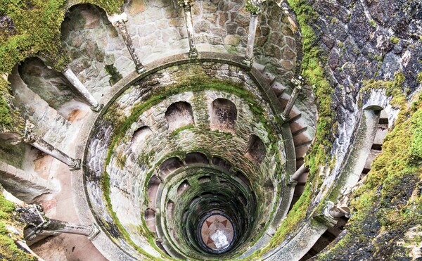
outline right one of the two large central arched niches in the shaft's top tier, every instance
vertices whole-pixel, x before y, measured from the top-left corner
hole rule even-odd
[[[226,98],[217,98],[211,103],[211,129],[235,132],[237,108]]]

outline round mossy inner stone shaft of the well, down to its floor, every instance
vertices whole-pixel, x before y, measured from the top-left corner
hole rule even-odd
[[[267,95],[234,65],[188,63],[142,75],[106,105],[84,183],[98,225],[125,255],[228,259],[260,240],[286,190]]]

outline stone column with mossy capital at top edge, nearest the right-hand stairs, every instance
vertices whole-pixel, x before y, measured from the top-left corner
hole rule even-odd
[[[249,67],[253,64],[253,49],[255,44],[255,34],[257,32],[258,14],[261,12],[261,4],[265,0],[246,1],[246,10],[250,12],[248,44],[246,45],[246,54],[243,63]]]

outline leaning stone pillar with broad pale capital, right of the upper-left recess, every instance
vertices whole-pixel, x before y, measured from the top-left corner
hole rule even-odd
[[[126,22],[127,22],[127,15],[126,13],[119,13],[114,15],[107,15],[108,20],[110,20],[111,24],[116,27],[120,34],[122,34],[124,44],[126,44],[127,51],[129,51],[132,60],[135,63],[136,72],[141,73],[143,71],[143,64],[141,63],[141,59],[135,52],[135,46],[132,42],[132,38],[127,31]]]

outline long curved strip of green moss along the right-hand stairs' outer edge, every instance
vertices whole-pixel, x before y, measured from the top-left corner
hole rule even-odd
[[[309,206],[312,200],[313,188],[319,186],[319,179],[315,179],[321,166],[328,164],[328,155],[331,155],[331,126],[335,119],[335,112],[331,110],[331,94],[333,88],[324,75],[324,67],[321,65],[321,51],[316,42],[314,30],[309,25],[312,24],[318,13],[309,6],[306,0],[288,0],[288,4],[295,11],[302,33],[302,76],[312,85],[316,96],[316,106],[318,107],[319,120],[316,126],[316,137],[312,148],[305,157],[305,163],[309,166],[309,177],[305,191],[295,203],[292,210],[288,212],[281,227],[276,231],[274,237],[264,248],[255,251],[248,260],[255,260],[271,248],[278,246],[293,229],[300,226],[301,222],[309,217]]]

